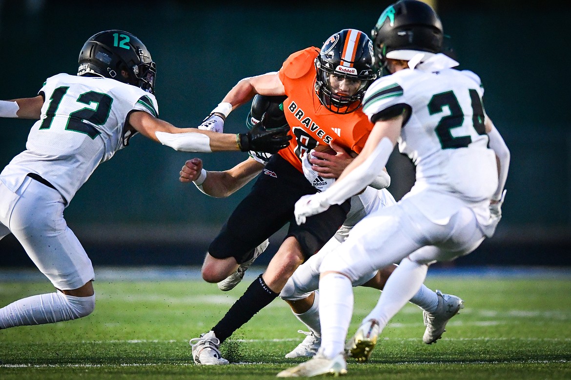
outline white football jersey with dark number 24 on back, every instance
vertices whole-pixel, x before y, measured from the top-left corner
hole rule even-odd
[[[389,107],[410,108],[398,140],[400,152],[416,166],[416,182],[407,196],[429,191],[482,204],[497,188],[496,158],[484,127],[484,90],[476,74],[450,68],[455,64],[437,54],[417,68],[377,79],[365,94],[363,111],[374,120]],[[432,201],[420,207],[447,219],[460,204]]]

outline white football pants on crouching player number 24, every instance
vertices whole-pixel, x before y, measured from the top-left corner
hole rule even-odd
[[[324,257],[320,273],[339,272],[356,281],[407,256],[426,265],[450,261],[471,253],[483,240],[484,234],[469,207],[460,208],[448,224],[439,225],[401,200],[357,223],[347,240]]]

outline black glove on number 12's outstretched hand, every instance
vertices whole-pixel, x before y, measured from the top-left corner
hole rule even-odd
[[[288,135],[289,126],[272,128],[267,130],[264,126],[264,118],[256,124],[248,133],[238,134],[238,146],[240,151],[256,151],[266,153],[278,153],[289,145],[291,136]]]

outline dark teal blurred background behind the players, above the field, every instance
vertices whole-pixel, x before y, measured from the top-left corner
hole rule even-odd
[[[369,33],[389,3],[0,1],[0,99],[35,96],[47,77],[74,74],[86,39],[122,29],[146,44],[158,66],[159,116],[197,126],[238,80],[279,70],[292,52],[321,46],[341,29]],[[485,0],[436,7],[459,68],[480,75],[486,112],[512,153],[496,235],[453,265],[571,265],[571,5]],[[226,132],[246,130],[248,108],[232,113]],[[0,119],[0,168],[25,149],[31,124]],[[192,157],[223,170],[246,153],[175,152],[138,136],[100,165],[65,212],[94,264],[202,262],[250,185],[213,199],[181,184],[178,172]],[[393,153],[388,169],[389,191],[400,199],[412,184],[411,165]],[[260,263],[271,254],[263,256]],[[31,265],[29,258],[5,237],[0,266],[22,265]]]

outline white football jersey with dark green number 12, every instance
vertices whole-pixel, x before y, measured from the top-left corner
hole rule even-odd
[[[114,79],[58,74],[39,94],[45,99],[41,117],[0,181],[16,191],[27,173],[37,173],[68,203],[100,163],[127,146],[131,111],[158,115],[154,95]]]

